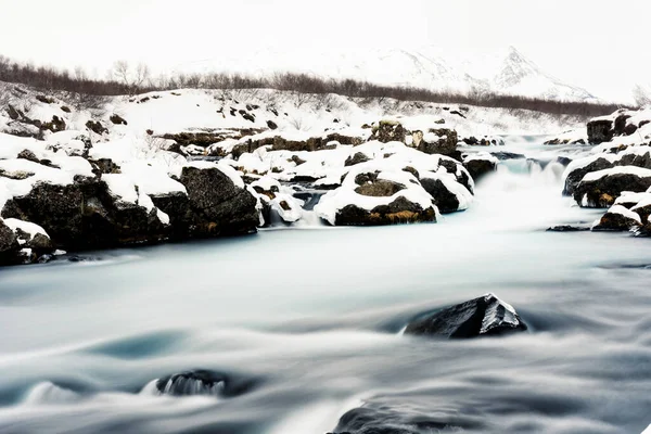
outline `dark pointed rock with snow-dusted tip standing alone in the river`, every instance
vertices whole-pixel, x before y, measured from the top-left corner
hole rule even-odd
[[[468,339],[525,331],[513,307],[494,294],[438,310],[410,322],[405,334]]]

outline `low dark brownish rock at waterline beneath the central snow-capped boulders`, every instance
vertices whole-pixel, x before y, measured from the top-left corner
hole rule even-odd
[[[434,208],[423,209],[419,204],[403,196],[388,205],[375,206],[370,212],[357,205],[346,205],[335,217],[336,226],[378,226],[418,221],[436,221]]]

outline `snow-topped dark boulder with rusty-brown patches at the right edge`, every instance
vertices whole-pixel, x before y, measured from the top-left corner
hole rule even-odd
[[[651,188],[651,170],[635,166],[613,167],[587,174],[574,191],[574,200],[586,207],[604,208],[623,191],[643,192]]]

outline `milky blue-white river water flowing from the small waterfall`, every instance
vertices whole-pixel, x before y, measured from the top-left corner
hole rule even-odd
[[[385,433],[640,433],[651,243],[546,232],[600,214],[560,195],[562,169],[503,162],[436,225],[303,226],[0,269],[0,432],[322,434],[363,405]],[[400,334],[487,292],[529,332]],[[156,379],[170,391],[170,374],[196,369],[224,376],[181,379],[197,396],[157,393]]]

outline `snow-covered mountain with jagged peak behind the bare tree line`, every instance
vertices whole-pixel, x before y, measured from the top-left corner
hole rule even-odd
[[[345,52],[264,49],[187,63],[175,69],[177,73],[239,73],[256,77],[292,72],[462,93],[489,91],[551,100],[596,100],[587,90],[545,73],[513,47],[472,55],[436,47]]]

